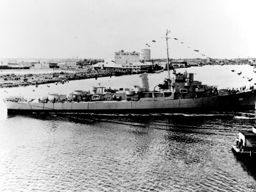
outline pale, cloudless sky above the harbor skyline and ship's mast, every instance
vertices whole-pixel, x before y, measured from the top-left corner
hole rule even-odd
[[[170,58],[256,57],[255,8],[247,0],[1,0],[0,58],[113,60],[145,48],[167,58],[167,29]]]

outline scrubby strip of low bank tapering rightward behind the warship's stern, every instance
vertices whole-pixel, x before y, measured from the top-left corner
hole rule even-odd
[[[127,71],[93,71],[93,70],[82,70],[74,72],[51,72],[51,73],[37,73],[37,74],[1,74],[0,76],[0,88],[13,88],[20,86],[36,86],[39,84],[48,83],[66,83],[68,81],[75,81],[80,79],[92,79],[98,77],[111,77],[111,76],[124,76],[129,75],[131,72]]]

